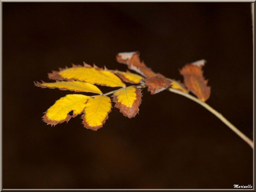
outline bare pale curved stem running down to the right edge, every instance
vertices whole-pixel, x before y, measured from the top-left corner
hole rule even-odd
[[[250,140],[246,135],[244,135],[244,133],[242,133],[238,128],[236,128],[234,125],[232,125],[232,123],[230,123],[222,114],[220,114],[218,111],[213,109],[207,103],[198,100],[196,97],[193,97],[192,95],[189,95],[188,93],[185,93],[185,92],[173,89],[173,88],[168,88],[168,90],[171,91],[171,92],[177,93],[179,95],[183,95],[184,97],[187,97],[190,100],[193,100],[194,102],[197,102],[198,104],[200,104],[201,106],[206,108],[208,111],[210,111],[216,117],[218,117],[218,119],[220,119],[223,123],[225,123],[226,126],[228,126],[232,131],[234,131],[239,137],[241,137],[242,140],[247,142],[248,145],[250,145],[252,149],[254,148],[252,140]]]

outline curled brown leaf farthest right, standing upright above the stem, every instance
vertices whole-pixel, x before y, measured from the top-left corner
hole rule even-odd
[[[196,64],[186,64],[180,70],[180,74],[183,75],[184,83],[188,90],[197,95],[199,100],[206,101],[210,97],[211,87],[207,86],[208,80],[204,79],[203,65],[204,62],[202,60],[196,62]]]

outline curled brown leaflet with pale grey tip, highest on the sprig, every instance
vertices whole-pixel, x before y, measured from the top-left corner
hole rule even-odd
[[[127,64],[128,68],[140,73],[145,77],[163,76],[160,73],[154,73],[145,63],[140,61],[139,52],[122,52],[116,55],[116,61],[122,64]]]

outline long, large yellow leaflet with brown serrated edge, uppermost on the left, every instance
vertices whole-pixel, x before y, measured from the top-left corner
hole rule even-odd
[[[75,66],[75,65],[73,65]],[[96,67],[75,66],[71,68],[61,69],[61,71],[53,71],[49,73],[50,79],[56,80],[79,80],[92,84],[105,85],[109,87],[126,87],[121,79],[110,71]],[[96,69],[95,69],[96,68]]]

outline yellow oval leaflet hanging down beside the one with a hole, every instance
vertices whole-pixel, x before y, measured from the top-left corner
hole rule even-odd
[[[104,95],[98,95],[88,99],[86,103],[83,118],[85,128],[97,130],[103,126],[109,118],[108,114],[111,111],[111,100]]]

